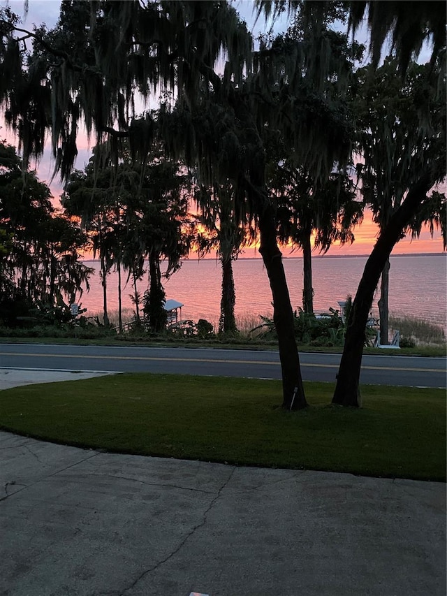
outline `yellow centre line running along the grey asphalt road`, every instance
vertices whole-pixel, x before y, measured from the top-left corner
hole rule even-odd
[[[96,360],[101,358],[103,360],[138,360],[138,361],[156,361],[156,362],[209,362],[214,364],[258,364],[279,366],[279,362],[256,361],[256,360],[222,360],[218,358],[160,358],[157,356],[88,356],[75,354],[20,354],[16,352],[0,352],[0,356],[26,356],[27,358],[85,358],[87,360]],[[301,363],[302,367],[307,368],[339,368],[338,364],[314,364]],[[447,372],[444,368],[404,368],[393,366],[362,366],[363,370],[398,370],[401,372]]]

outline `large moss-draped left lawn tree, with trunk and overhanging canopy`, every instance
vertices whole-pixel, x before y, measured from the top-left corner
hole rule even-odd
[[[254,54],[251,36],[227,2],[117,1],[90,6],[88,15],[85,3],[62,3],[59,24],[49,35],[20,31],[3,13],[0,74],[6,83],[0,96],[8,122],[22,138],[25,160],[42,153],[50,128],[57,168],[66,179],[82,119],[97,143],[105,136],[126,136],[131,155],[144,161],[155,125],[149,112],[138,117],[135,103],[173,92],[177,106],[189,112],[190,119],[181,131],[163,129],[166,145],[198,164],[205,184],[221,182],[220,177],[207,179],[207,160],[213,162],[213,172],[220,163],[221,174],[230,176],[247,210],[256,215],[272,288],[284,407],[305,407],[275,205],[266,188],[263,129],[280,129],[300,162],[317,173],[331,170],[335,159],[348,152],[347,112],[341,101],[323,93],[327,75],[321,73],[321,61],[309,59],[316,54],[324,63],[339,58],[330,36],[315,29],[306,43],[280,40]],[[17,33],[34,39],[35,51],[26,66]],[[342,60],[340,69],[346,72],[346,66]],[[215,152],[193,126],[196,116],[211,108],[220,110],[214,126],[221,125],[221,147]],[[184,138],[191,142],[185,144]],[[233,172],[225,172],[230,165]]]

